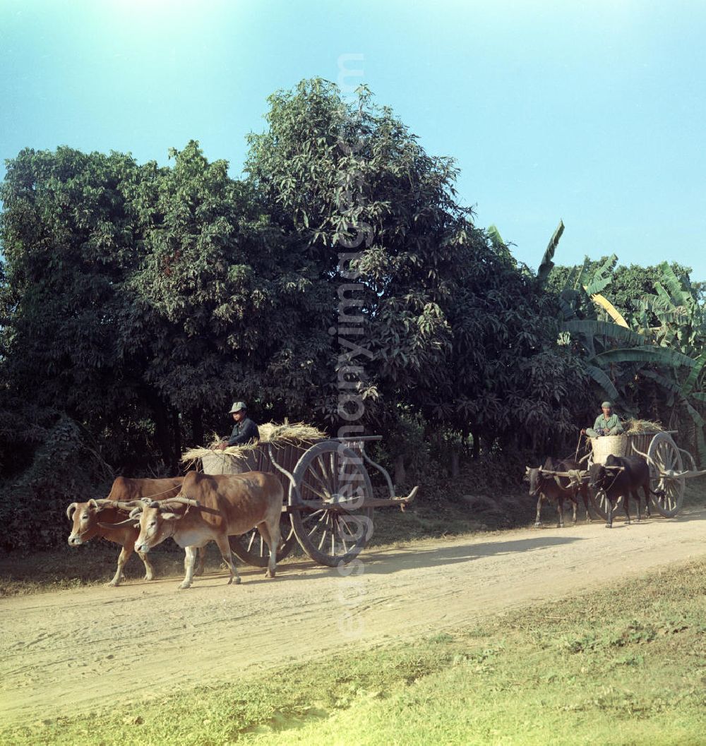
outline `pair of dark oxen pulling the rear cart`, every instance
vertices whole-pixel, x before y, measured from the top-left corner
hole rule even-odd
[[[619,500],[623,498],[625,507],[625,523],[630,523],[630,498],[632,497],[637,507],[637,521],[640,521],[640,493],[643,489],[645,497],[645,515],[650,517],[649,496],[655,495],[658,499],[664,497],[661,490],[653,490],[650,487],[650,474],[647,461],[640,456],[608,456],[604,464],[594,463],[584,471],[578,461],[572,459],[555,459],[549,457],[544,466],[537,468],[527,467],[525,480],[529,481],[529,495],[537,498],[537,517],[534,525],[541,526],[540,511],[544,501],[555,503],[557,506],[557,526],[563,527],[563,504],[570,501],[573,508],[573,522],[576,522],[576,511],[578,507],[578,495],[581,495],[586,508],[586,519],[591,521],[588,507],[590,493],[598,498],[605,495],[607,498],[606,527],[613,527],[613,510]]]

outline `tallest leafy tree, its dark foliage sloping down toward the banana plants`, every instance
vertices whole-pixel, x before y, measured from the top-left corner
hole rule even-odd
[[[490,440],[569,430],[566,394],[581,372],[557,350],[529,278],[457,202],[453,160],[427,154],[364,87],[344,101],[334,84],[302,81],[269,102],[247,169],[322,278],[354,278],[369,421],[389,426],[404,403],[430,426]],[[319,403],[329,415],[336,380]]]

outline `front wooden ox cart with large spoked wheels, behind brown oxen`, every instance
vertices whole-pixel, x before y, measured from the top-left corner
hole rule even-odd
[[[206,474],[242,474],[269,471],[284,487],[280,562],[298,542],[314,562],[328,567],[350,562],[372,536],[372,511],[398,506],[404,510],[418,487],[404,498],[395,496],[390,474],[366,454],[366,442],[382,436],[331,438],[307,444],[259,442],[237,456],[212,451],[201,457]],[[389,498],[375,498],[366,464],[377,469],[387,483]],[[239,560],[266,567],[269,548],[257,528],[231,536],[231,551]]]

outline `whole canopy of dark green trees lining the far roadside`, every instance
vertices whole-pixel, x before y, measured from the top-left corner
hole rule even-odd
[[[68,147],[7,163],[5,471],[30,468],[69,421],[114,468],[173,470],[184,445],[228,427],[234,398],[256,419],[335,434],[342,393],[364,403],[360,423],[389,435],[393,455],[413,447],[410,422],[470,437],[476,453],[556,451],[575,443],[601,387],[645,405],[613,366],[635,374],[616,359],[628,330],[604,343],[597,327],[566,326],[613,323],[591,300],[609,284],[632,342],[649,336],[672,360],[703,349],[701,291],[690,304],[677,289],[691,292],[686,268],[668,280],[610,257],[552,269],[557,231],[535,277],[460,204],[454,160],[428,154],[366,88],[351,99],[302,81],[270,96],[266,121],[243,178],[193,141],[167,166]],[[665,355],[640,371],[664,377]],[[669,380],[699,401],[701,369]]]

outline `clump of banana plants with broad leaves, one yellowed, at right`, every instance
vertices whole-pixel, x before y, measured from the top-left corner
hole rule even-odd
[[[537,270],[540,286],[552,271],[563,230],[560,221]],[[557,298],[563,316],[559,343],[578,341],[587,373],[626,411],[631,410],[628,393],[632,384],[640,378],[652,380],[664,392],[668,407],[680,404],[689,414],[696,427],[699,457],[706,464],[706,423],[699,412],[706,401],[703,304],[665,262],[660,265],[655,294],[643,298],[636,317],[626,319],[603,295],[616,263],[612,254],[592,269],[586,257],[569,272]]]

